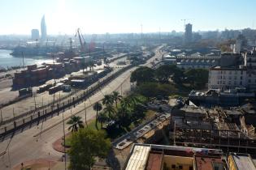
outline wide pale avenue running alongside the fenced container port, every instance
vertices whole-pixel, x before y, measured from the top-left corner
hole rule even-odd
[[[155,60],[156,57],[160,58],[162,53],[158,53],[158,47],[156,49],[156,55],[152,57],[144,66],[150,66],[150,62]],[[131,85],[129,83],[129,78],[132,70],[136,68],[133,67],[130,70],[121,74],[118,78],[114,79],[106,87],[102,87],[101,91],[95,93],[89,100],[86,100],[82,104],[78,104],[76,108],[66,110],[63,115],[64,117],[70,117],[72,114],[77,114],[82,117],[82,120],[85,120],[85,105],[88,107],[86,109],[87,121],[95,117],[95,111],[90,106],[98,100],[102,100],[105,94],[109,94],[112,91],[122,92],[123,95],[127,94],[130,91]],[[0,143],[0,155],[2,152],[7,151],[6,154],[0,156],[0,169],[7,170],[11,169],[17,164],[21,164],[24,161],[30,159],[39,159],[46,158],[52,160],[59,160],[62,153],[54,151],[52,143],[55,142],[58,138],[63,136],[63,123],[58,123],[62,121],[62,114],[59,116],[53,117],[43,124],[34,126],[29,130],[25,130],[23,133],[16,134],[13,138],[9,138]],[[67,133],[68,126],[65,121],[65,132]],[[53,127],[51,127],[54,125]],[[42,130],[42,131],[41,131]],[[39,134],[43,132],[42,134]],[[36,137],[34,137],[36,135]],[[11,141],[11,142],[10,142]],[[10,145],[6,150],[8,143]]]

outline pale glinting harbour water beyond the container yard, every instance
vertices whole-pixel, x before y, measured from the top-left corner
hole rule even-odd
[[[13,57],[11,50],[0,49],[0,68],[7,68],[11,66],[23,66],[22,57]],[[50,58],[44,57],[24,57],[24,65],[37,64],[41,66],[43,62],[52,62]]]

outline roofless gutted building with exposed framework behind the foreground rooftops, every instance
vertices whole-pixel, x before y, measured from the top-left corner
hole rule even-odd
[[[170,121],[170,142],[176,146],[207,147],[256,155],[254,104],[251,109],[174,108]],[[248,107],[248,104],[246,105]],[[253,111],[253,112],[252,112]]]

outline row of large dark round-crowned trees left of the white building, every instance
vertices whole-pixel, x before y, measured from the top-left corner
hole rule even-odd
[[[189,69],[182,70],[176,65],[163,65],[153,70],[149,67],[142,66],[132,72],[131,83],[175,83],[183,85],[189,83],[192,88],[201,88],[208,81],[208,70],[206,69]]]

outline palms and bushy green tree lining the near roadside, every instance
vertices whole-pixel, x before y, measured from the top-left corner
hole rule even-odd
[[[101,102],[93,104],[96,111],[96,127],[98,121],[115,121],[115,125],[128,126],[134,120],[145,116],[145,108],[136,95],[122,97],[118,91],[105,95]],[[106,158],[111,149],[111,141],[106,138],[103,130],[85,128],[81,117],[72,116],[67,124],[72,131],[70,138],[69,168],[74,170],[87,170],[93,167],[95,157]],[[98,127],[97,127],[98,128]]]

